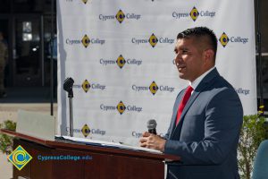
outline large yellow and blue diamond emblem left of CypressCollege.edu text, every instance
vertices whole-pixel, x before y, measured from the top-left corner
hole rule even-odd
[[[21,170],[29,163],[32,157],[21,147],[21,145],[19,145],[9,156],[7,156],[7,159],[13,163],[13,166],[16,166],[18,170]]]

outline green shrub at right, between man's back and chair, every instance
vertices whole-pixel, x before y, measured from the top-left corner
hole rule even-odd
[[[265,118],[245,115],[239,139],[239,171],[242,179],[250,179],[253,162],[260,143],[265,140]]]

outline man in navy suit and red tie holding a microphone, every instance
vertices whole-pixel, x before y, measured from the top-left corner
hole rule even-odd
[[[243,109],[237,92],[214,67],[217,38],[197,27],[180,32],[175,64],[189,87],[176,98],[164,138],[144,132],[140,146],[177,155],[167,178],[239,178],[237,147]]]

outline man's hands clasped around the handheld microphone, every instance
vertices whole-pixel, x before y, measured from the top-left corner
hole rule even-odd
[[[144,132],[142,134],[142,138],[139,140],[140,147],[149,148],[149,149],[157,149],[163,152],[165,140],[158,135]]]

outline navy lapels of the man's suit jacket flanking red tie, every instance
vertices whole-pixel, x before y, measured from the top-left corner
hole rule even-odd
[[[180,105],[180,100],[182,99],[182,97],[184,96],[184,93],[185,93],[185,90],[183,91],[181,97],[178,98],[179,100],[176,101],[176,104],[175,104],[176,107],[177,107],[177,110],[175,111],[175,114],[172,115],[172,124],[173,124],[172,129],[173,130],[172,130],[171,137],[174,135],[175,131],[177,131],[177,130],[179,130],[181,128],[181,125],[182,125],[183,120],[184,120],[184,116],[187,114],[189,107],[191,107],[191,105],[193,104],[193,102],[197,99],[198,95],[203,90],[205,90],[205,87],[207,87],[209,85],[210,81],[212,81],[214,79],[214,77],[219,76],[219,75],[220,75],[219,72],[215,68],[214,70],[212,70],[211,72],[209,72],[202,81],[200,81],[200,83],[197,86],[197,89],[194,90],[193,94],[188,99],[188,102],[187,102],[186,106],[184,107],[184,109],[183,109],[183,111],[182,111],[182,113],[180,115],[179,124],[176,126],[175,120],[177,118],[177,113],[178,113],[178,108],[179,108],[179,105]]]

